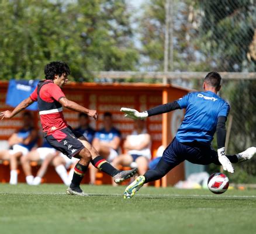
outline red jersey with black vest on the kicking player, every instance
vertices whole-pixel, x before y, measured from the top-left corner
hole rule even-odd
[[[30,95],[30,98],[38,103],[41,125],[46,135],[68,127],[64,120],[62,105],[58,102],[61,97],[65,97],[64,93],[51,80],[40,81]]]

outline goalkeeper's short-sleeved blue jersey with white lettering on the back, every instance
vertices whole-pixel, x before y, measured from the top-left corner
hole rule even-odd
[[[177,102],[181,109],[186,109],[176,135],[179,142],[198,141],[210,144],[218,117],[227,117],[230,109],[225,100],[211,91],[188,93]]]

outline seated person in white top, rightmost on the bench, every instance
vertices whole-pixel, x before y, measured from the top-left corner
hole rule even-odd
[[[112,165],[133,167],[132,164],[135,162],[139,174],[146,173],[151,159],[151,137],[147,133],[144,120],[134,120],[134,131],[131,135],[127,135],[123,148],[125,153],[115,158]]]

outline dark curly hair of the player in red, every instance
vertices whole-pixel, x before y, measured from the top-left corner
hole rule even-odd
[[[54,79],[54,75],[61,76],[63,73],[70,75],[70,67],[65,62],[56,61],[46,64],[44,67],[44,74],[46,79]]]

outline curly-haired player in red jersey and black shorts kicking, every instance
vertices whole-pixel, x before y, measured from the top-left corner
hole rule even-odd
[[[137,169],[120,171],[110,165],[96,149],[79,132],[72,130],[63,116],[63,107],[70,110],[88,114],[98,120],[96,110],[89,110],[79,104],[68,100],[61,88],[67,83],[70,68],[65,62],[50,62],[44,67],[45,80],[40,81],[33,93],[23,100],[13,111],[0,113],[2,119],[12,118],[33,102],[38,103],[40,121],[44,137],[51,146],[64,153],[68,158],[80,159],[74,169],[74,175],[67,194],[87,195],[80,183],[91,162],[99,170],[112,176],[116,183],[120,183],[137,173]]]

